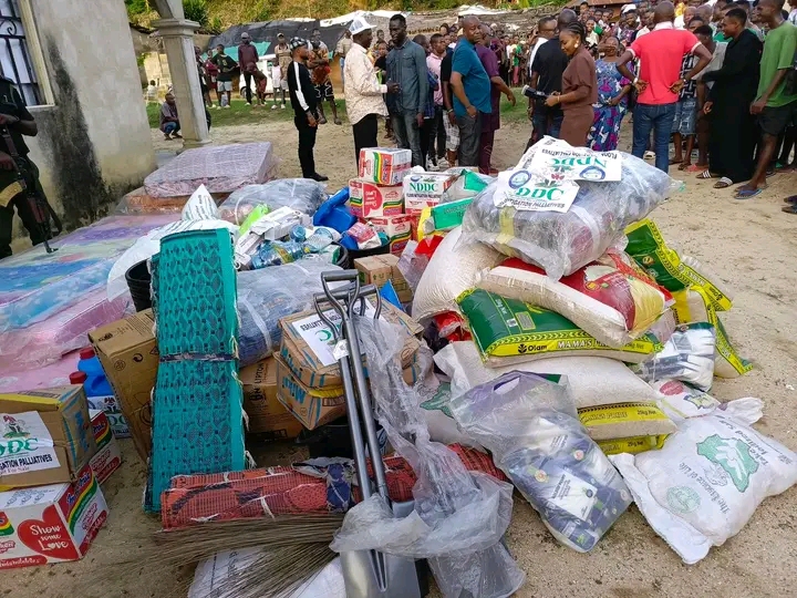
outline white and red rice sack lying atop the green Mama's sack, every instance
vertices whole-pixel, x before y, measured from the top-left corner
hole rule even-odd
[[[560,280],[510,258],[482,275],[476,286],[561,313],[588,334],[620,348],[646,332],[673,303],[636,262],[609,250]]]

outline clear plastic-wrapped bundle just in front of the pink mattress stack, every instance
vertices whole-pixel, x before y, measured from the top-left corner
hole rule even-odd
[[[247,185],[234,192],[220,206],[221,218],[241,225],[257,206],[275,210],[289,207],[308,216],[327,200],[325,187],[311,178],[279,178],[265,185]]]

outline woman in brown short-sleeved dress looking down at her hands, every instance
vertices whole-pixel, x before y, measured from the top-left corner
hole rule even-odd
[[[546,105],[561,104],[565,120],[559,138],[575,147],[584,147],[594,118],[592,104],[598,101],[594,60],[587,49],[587,30],[579,21],[568,23],[560,31],[559,42],[570,62],[562,73],[561,94],[555,92]]]

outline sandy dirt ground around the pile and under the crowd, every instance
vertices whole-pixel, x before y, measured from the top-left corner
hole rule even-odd
[[[629,150],[630,126],[625,128],[621,150]],[[525,123],[509,124],[498,133],[494,161],[499,168],[518,159],[528,133]],[[156,131],[153,140],[158,150],[175,147],[175,142],[164,142]],[[297,134],[291,123],[217,128],[213,141],[271,141],[281,159],[280,175],[299,176]],[[354,175],[353,153],[348,126],[328,124],[320,130],[318,169],[330,176],[331,189],[340,188]],[[783,197],[795,193],[797,175],[778,175],[760,196],[737,202],[728,189],[714,190],[711,182],[697,182],[677,171],[673,174],[685,179],[686,188],[653,216],[671,243],[711,265],[735,289],[735,307],[723,315],[723,320],[738,351],[756,364],[744,378],[717,380],[712,394],[724,401],[763,399],[765,417],[756,427],[797,448],[793,405],[797,400],[797,218],[780,212]],[[84,594],[85,598],[184,596],[180,582],[192,576],[189,570],[138,571],[118,565],[135,559],[147,546],[143,539],[147,530],[158,527],[157,520],[141,509],[144,468],[131,442],[122,444],[125,464],[104,487],[111,516],[86,558],[6,571],[0,596],[72,597],[94,578],[97,584]],[[259,458],[259,465],[289,463],[291,452],[296,456],[291,447],[280,450],[280,454]],[[559,545],[516,493],[509,546],[528,576],[517,594],[522,598],[783,597],[795,595],[796,530],[797,491],[793,488],[767,499],[726,545],[712,549],[700,564],[686,566],[632,506],[591,554],[581,555]]]

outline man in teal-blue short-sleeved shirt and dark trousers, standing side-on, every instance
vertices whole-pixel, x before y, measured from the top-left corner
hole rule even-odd
[[[451,86],[454,91],[454,115],[459,126],[459,166],[478,166],[482,118],[490,114],[490,80],[476,53],[482,39],[477,17],[463,20],[463,39],[454,51]]]

